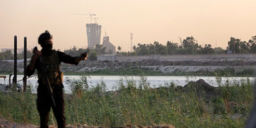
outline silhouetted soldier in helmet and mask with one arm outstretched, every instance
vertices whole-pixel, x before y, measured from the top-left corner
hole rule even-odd
[[[63,74],[60,72],[60,62],[77,65],[81,60],[87,59],[88,55],[83,53],[81,56],[71,57],[63,52],[53,50],[52,35],[48,31],[39,36],[38,43],[42,46],[42,50],[33,51],[30,64],[27,67],[27,75],[32,75],[35,69],[37,69],[39,83],[37,88],[37,110],[40,115],[40,128],[48,128],[51,107],[57,120],[58,128],[65,128],[66,118],[62,89]],[[43,71],[43,69],[46,71]],[[48,77],[48,82],[45,80],[47,77],[43,75]],[[47,90],[47,83],[50,85],[48,87],[52,89],[52,96],[49,94],[49,90]]]

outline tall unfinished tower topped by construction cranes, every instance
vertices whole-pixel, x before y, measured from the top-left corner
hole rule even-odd
[[[88,48],[95,48],[96,44],[100,45],[101,25],[86,24],[86,33]]]

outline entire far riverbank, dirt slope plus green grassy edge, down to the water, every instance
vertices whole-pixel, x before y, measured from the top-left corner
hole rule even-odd
[[[253,76],[255,61],[82,61],[79,65],[62,63],[66,75],[146,75],[146,76]],[[23,74],[23,63],[17,64],[17,74]],[[13,74],[13,62],[0,61],[0,74]]]

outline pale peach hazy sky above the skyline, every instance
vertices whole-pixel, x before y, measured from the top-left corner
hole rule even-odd
[[[86,23],[96,14],[110,42],[123,51],[133,44],[164,45],[168,40],[193,36],[201,45],[227,47],[230,37],[248,41],[256,35],[256,0],[0,0],[0,48],[18,48],[26,36],[28,46],[38,43],[45,30],[53,35],[53,47],[87,47]],[[93,19],[94,23],[94,19]]]

